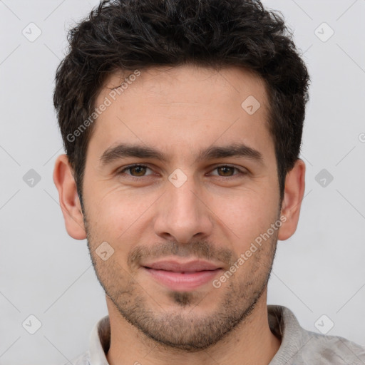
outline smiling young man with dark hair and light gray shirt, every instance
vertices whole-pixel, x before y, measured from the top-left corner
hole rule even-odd
[[[108,306],[73,364],[365,364],[267,306],[304,195],[309,76],[282,18],[253,0],[103,1],[69,41],[53,180]]]

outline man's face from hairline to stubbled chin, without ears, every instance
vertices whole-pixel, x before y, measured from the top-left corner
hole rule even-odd
[[[108,306],[160,343],[203,349],[266,294],[277,230],[255,240],[279,220],[279,186],[264,84],[238,68],[151,68],[113,101],[122,81],[115,74],[98,96],[96,107],[112,103],[88,142],[91,258]],[[126,144],[165,160],[122,155]],[[238,145],[242,155],[204,154]],[[114,250],[106,260],[102,242],[101,257]]]

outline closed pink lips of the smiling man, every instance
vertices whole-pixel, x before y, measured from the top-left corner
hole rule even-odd
[[[190,262],[177,262],[163,260],[144,264],[143,269],[155,279],[156,282],[175,291],[190,291],[211,282],[222,267],[211,262],[194,260]]]

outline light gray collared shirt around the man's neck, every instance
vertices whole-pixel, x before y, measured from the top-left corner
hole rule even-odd
[[[268,365],[365,365],[365,347],[339,336],[303,329],[287,307],[268,305],[269,327],[282,344]],[[109,316],[100,319],[90,335],[88,351],[73,359],[73,365],[109,365]],[[66,365],[66,364],[65,364]]]

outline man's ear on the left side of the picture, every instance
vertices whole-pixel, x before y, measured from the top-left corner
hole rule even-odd
[[[81,203],[78,199],[76,182],[67,155],[58,156],[53,170],[53,182],[58,190],[68,235],[75,238],[75,240],[85,239],[86,230],[83,224]]]

